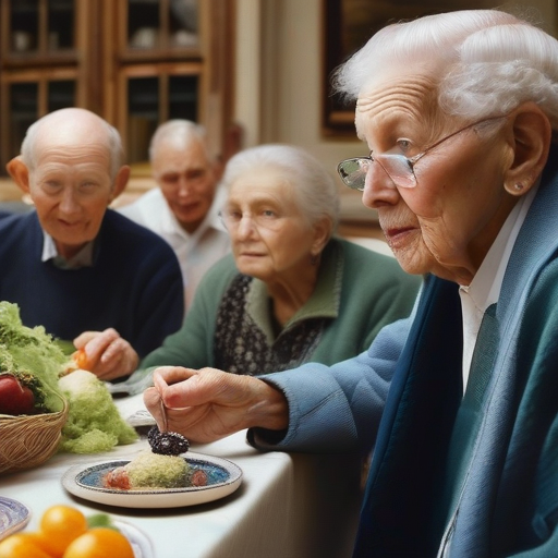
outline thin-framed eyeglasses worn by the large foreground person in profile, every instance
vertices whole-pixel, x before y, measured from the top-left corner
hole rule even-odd
[[[354,157],[352,159],[345,159],[344,161],[341,161],[337,166],[337,172],[339,172],[341,180],[347,186],[352,190],[359,190],[362,192],[364,191],[364,184],[368,169],[374,161],[377,161],[396,186],[414,187],[416,186],[414,166],[427,153],[429,153],[435,147],[439,147],[444,142],[447,142],[451,137],[456,137],[462,132],[466,132],[468,130],[471,130],[478,124],[483,124],[484,122],[498,120],[501,118],[506,118],[506,116],[490,117],[478,120],[477,122],[473,122],[472,124],[469,124],[465,128],[461,128],[457,132],[442,137],[440,141],[436,142],[434,145],[430,145],[424,151],[415,155],[414,157],[405,157],[401,154],[390,153],[373,155],[371,151],[368,157]]]

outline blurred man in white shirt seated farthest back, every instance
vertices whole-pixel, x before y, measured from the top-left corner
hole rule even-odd
[[[119,211],[172,246],[187,308],[204,274],[230,252],[218,215],[225,202],[220,163],[209,151],[205,129],[189,120],[170,120],[156,130],[149,160],[159,187]]]

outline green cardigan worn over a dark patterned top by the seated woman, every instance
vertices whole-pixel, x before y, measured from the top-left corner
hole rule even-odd
[[[167,337],[159,349],[141,362],[141,369],[134,373],[131,384],[138,380],[144,385],[148,383],[146,369],[154,366],[215,366],[216,317],[227,290],[238,275],[231,255],[209,269],[182,328]],[[409,316],[421,282],[421,278],[407,275],[395,258],[345,240],[332,239],[324,251],[314,293],[283,329],[315,317],[330,317],[319,343],[306,360],[333,364],[367,349],[385,325]],[[257,327],[271,339],[267,301],[265,284],[253,279],[246,293],[248,312]],[[246,342],[250,343],[250,339]],[[256,373],[268,372],[274,371]]]

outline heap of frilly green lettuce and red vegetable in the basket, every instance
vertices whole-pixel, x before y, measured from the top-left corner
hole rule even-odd
[[[44,327],[22,324],[16,304],[0,302],[0,415],[54,413],[65,399],[59,451],[97,453],[136,440],[105,383],[69,359]]]

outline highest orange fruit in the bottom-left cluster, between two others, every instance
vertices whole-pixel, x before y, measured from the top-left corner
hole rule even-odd
[[[40,546],[53,558],[62,558],[68,545],[87,531],[87,518],[76,508],[51,506],[40,518]]]

